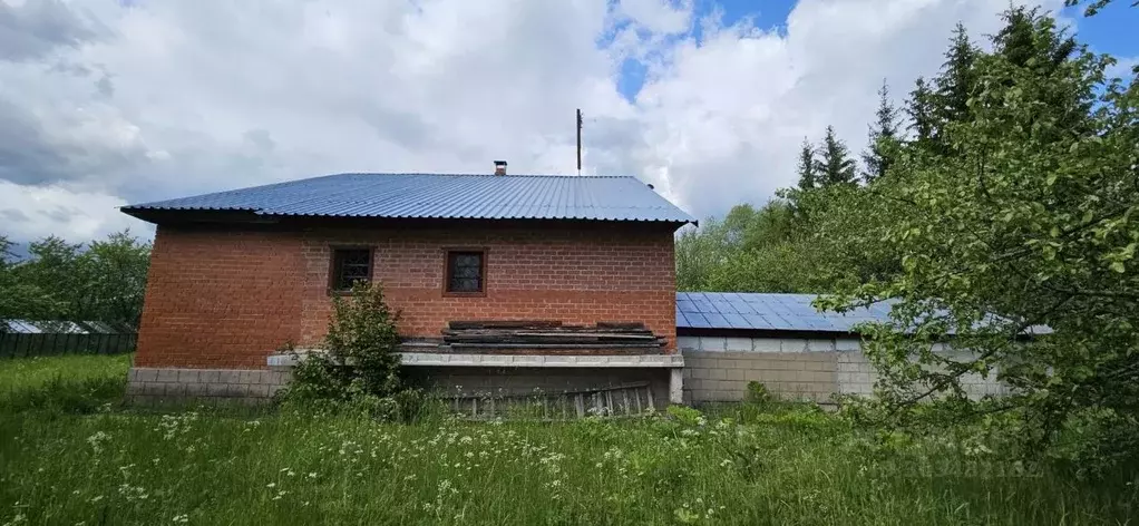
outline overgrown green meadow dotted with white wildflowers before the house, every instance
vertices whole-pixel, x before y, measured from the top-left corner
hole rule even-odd
[[[885,453],[842,420],[752,414],[415,425],[117,405],[129,359],[0,361],[0,525],[1133,524],[1134,479],[985,447]]]

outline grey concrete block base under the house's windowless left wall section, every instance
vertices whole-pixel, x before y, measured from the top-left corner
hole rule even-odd
[[[126,401],[151,404],[172,401],[269,402],[292,378],[287,370],[132,368]]]

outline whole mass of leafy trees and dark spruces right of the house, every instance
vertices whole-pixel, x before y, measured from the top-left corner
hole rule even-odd
[[[782,190],[790,214],[764,245],[731,233],[748,221],[711,221],[678,245],[703,244],[704,266],[678,276],[834,293],[823,309],[894,302],[865,328],[878,424],[1002,435],[1006,454],[1082,475],[1139,461],[1139,82],[1107,79],[1114,59],[1036,9],[1010,8],[989,39],[954,31],[903,106],[908,133],[871,145],[892,149],[866,184]],[[975,376],[1010,393],[970,395]]]

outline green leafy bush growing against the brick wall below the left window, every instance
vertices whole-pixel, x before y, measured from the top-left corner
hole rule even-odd
[[[400,376],[399,312],[384,302],[378,285],[357,283],[349,296],[333,297],[322,352],[297,353],[286,404],[333,412],[362,412],[407,420],[424,405],[419,389]]]

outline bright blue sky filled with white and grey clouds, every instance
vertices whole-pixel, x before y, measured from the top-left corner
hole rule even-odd
[[[1062,0],[1040,0],[1058,9]],[[1134,64],[1139,9],[1083,19]],[[150,229],[117,211],[346,172],[584,172],[706,216],[855,150],[964,22],[1008,0],[0,0],[0,233]],[[1121,69],[1122,71],[1122,69]]]

